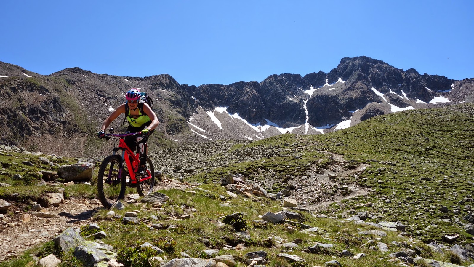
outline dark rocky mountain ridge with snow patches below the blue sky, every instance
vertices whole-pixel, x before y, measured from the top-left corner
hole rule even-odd
[[[154,98],[161,124],[152,147],[326,133],[376,115],[474,101],[473,79],[403,71],[365,56],[343,58],[328,74],[273,74],[262,82],[197,87],[168,74],[120,77],[74,67],[40,75],[0,62],[0,142],[99,155],[109,144],[93,134],[132,87]],[[124,129],[121,122],[112,126]]]

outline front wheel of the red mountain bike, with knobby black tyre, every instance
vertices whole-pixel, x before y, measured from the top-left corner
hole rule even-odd
[[[126,181],[123,159],[118,155],[106,157],[99,168],[97,191],[102,205],[106,209],[125,197]]]

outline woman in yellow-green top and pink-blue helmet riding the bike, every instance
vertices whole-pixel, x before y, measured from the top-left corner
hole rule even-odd
[[[140,167],[136,173],[137,176],[146,176],[146,155],[148,154],[148,147],[146,141],[148,137],[155,131],[155,128],[160,123],[156,117],[155,112],[148,106],[148,104],[140,101],[140,90],[137,88],[132,88],[128,90],[125,94],[127,101],[121,104],[116,110],[109,115],[107,119],[104,120],[100,131],[97,132],[98,138],[104,137],[104,131],[107,129],[109,124],[117,119],[120,114],[125,113],[128,110],[128,114],[125,114],[128,127],[127,131],[129,132],[140,132],[141,134],[137,137],[128,136],[125,138],[125,144],[132,150],[135,151],[138,144],[138,153],[140,159]],[[141,112],[143,110],[143,114]]]

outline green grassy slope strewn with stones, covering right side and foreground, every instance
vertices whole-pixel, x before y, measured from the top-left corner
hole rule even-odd
[[[440,240],[441,234],[459,233],[461,238],[456,241],[457,244],[470,243],[472,236],[463,232],[461,226],[441,220],[451,218],[454,221],[458,218],[466,223],[463,220],[466,214],[464,205],[470,203],[465,200],[465,203],[461,204],[460,201],[463,201],[465,197],[470,198],[469,195],[473,190],[471,183],[474,177],[474,120],[472,114],[474,114],[474,105],[465,104],[457,108],[411,110],[375,117],[331,134],[280,135],[245,146],[237,145],[228,151],[229,153],[235,151],[251,153],[255,150],[272,150],[275,156],[255,155],[253,161],[229,162],[227,166],[222,166],[207,174],[196,175],[194,178],[198,181],[208,179],[212,182],[228,172],[235,171],[246,172],[248,176],[253,175],[252,178],[255,180],[265,175],[279,176],[282,179],[288,177],[287,175],[303,175],[307,166],[324,165],[327,157],[319,150],[328,150],[343,155],[346,160],[369,164],[366,172],[358,177],[352,177],[352,181],[371,189],[368,196],[334,205],[328,210],[329,213],[337,214],[351,209],[357,212],[368,210],[379,217],[372,221],[401,221],[406,225],[407,232],[418,236],[417,239]],[[214,157],[224,156],[215,155]],[[428,180],[426,178],[430,178],[430,181],[426,181]],[[251,221],[258,220],[257,215],[263,215],[268,211],[280,211],[280,202],[268,199],[254,202],[239,197],[228,200],[230,207],[226,207],[221,206],[222,202],[218,197],[219,194],[225,195],[223,187],[212,183],[200,187],[209,189],[213,193],[205,196],[206,193],[199,190],[195,190],[196,194],[178,190],[162,191],[171,198],[170,202],[164,204],[164,210],[142,211],[139,214],[140,218],[147,220],[146,223],[159,222],[163,224],[164,229],[170,225],[177,225],[177,228],[170,230],[171,232],[148,230],[143,224],[123,225],[120,220],[107,219],[106,211],[99,212],[96,218],[98,221],[105,219],[100,222],[100,225],[108,234],[103,241],[118,250],[144,242],[151,242],[162,249],[167,246],[165,255],[160,255],[167,259],[177,257],[180,252],[186,252],[191,257],[203,257],[202,249],[213,247],[220,249],[223,244],[245,243],[249,249],[244,252],[221,250],[219,254],[232,254],[237,260],[245,262],[243,255],[246,252],[263,249],[269,253],[270,263],[267,266],[290,266],[290,263],[272,255],[272,253],[280,253],[282,248],[266,247],[268,237],[278,236],[288,241],[296,238],[303,240],[299,249],[290,252],[306,259],[307,262],[300,266],[323,265],[325,261],[334,259],[332,256],[336,256],[343,266],[394,266],[386,262],[387,258],[383,258],[387,254],[369,249],[370,245],[363,246],[369,239],[374,239],[374,236],[357,237],[356,232],[359,229],[370,228],[332,219],[314,218],[307,213],[301,213],[303,222],[310,226],[320,227],[321,235],[310,236],[298,231],[290,233],[286,231],[285,225],[280,224],[261,228],[252,224]],[[407,196],[413,199],[407,200]],[[374,203],[374,207],[369,208],[363,205],[367,202]],[[440,206],[447,206],[449,212],[440,212],[438,210]],[[191,208],[195,208],[196,212],[190,212]],[[126,211],[136,209],[136,206],[129,205]],[[123,215],[124,212],[118,213]],[[251,233],[250,240],[245,241],[237,237],[232,227],[219,229],[209,223],[211,220],[217,220],[219,216],[233,212],[246,213],[244,219]],[[169,216],[186,213],[191,213],[194,218],[184,221],[164,221]],[[157,216],[160,220],[150,220],[151,215]],[[432,226],[435,224],[436,227]],[[389,236],[382,238],[380,242],[389,245],[390,252],[401,250],[392,245],[393,240],[403,241],[407,238],[397,236],[396,233],[389,233]],[[169,244],[166,245],[168,241]],[[327,254],[301,253],[302,249],[311,246],[313,242],[335,244],[335,249],[329,250]],[[425,258],[448,261],[445,256],[431,254],[421,241],[415,241],[412,245],[421,247],[423,249],[421,256]],[[37,250],[40,251],[40,255],[46,256],[50,247],[46,244]],[[346,247],[353,253],[365,253],[368,257],[359,260],[338,257],[337,251],[342,251]],[[66,257],[58,252],[55,253],[63,258]],[[2,263],[0,266],[15,266],[15,262],[27,262],[29,260],[27,255],[25,254],[23,259]],[[70,261],[64,264],[79,266]],[[465,263],[465,265],[468,264]]]

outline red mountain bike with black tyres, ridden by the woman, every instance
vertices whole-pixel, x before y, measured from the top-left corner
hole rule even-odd
[[[114,134],[113,128],[108,134],[104,134],[105,139],[115,139],[112,155],[106,157],[99,168],[97,176],[97,191],[102,205],[109,209],[113,203],[125,198],[125,190],[128,186],[137,187],[140,196],[153,192],[155,186],[155,169],[149,157],[146,158],[146,176],[136,176],[140,167],[139,154],[135,154],[125,144],[125,137],[140,134],[126,132],[125,134]],[[117,146],[118,141],[118,146]],[[116,155],[118,150],[122,150],[122,155]],[[125,162],[125,165],[124,165]]]

